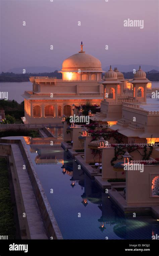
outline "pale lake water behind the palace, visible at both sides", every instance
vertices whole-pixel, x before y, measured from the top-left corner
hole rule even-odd
[[[159,82],[152,82],[152,87],[159,87]],[[31,91],[33,89],[31,82],[22,83],[0,83],[0,92],[8,92],[9,100],[16,100],[21,103],[24,99],[21,96],[24,91]]]

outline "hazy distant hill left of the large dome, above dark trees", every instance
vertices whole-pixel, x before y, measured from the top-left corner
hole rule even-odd
[[[39,67],[20,67],[20,68],[12,68],[9,69],[7,72],[15,73],[15,74],[22,74],[22,70],[25,68],[26,73],[51,73],[55,70],[60,70],[59,67],[46,67],[46,66],[39,66]]]

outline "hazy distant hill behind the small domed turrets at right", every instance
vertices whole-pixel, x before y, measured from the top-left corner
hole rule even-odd
[[[131,64],[131,65],[111,65],[112,69],[114,69],[115,67],[117,67],[117,69],[120,71],[120,72],[132,72],[133,69],[136,69],[138,70],[139,69],[139,64]],[[110,66],[106,66],[105,68],[103,68],[104,71],[108,71],[110,68]],[[153,65],[144,65],[144,64],[141,64],[141,68],[142,70],[144,70],[145,72],[151,70],[155,70],[156,72],[158,72],[157,70],[159,70],[159,67],[158,66],[153,66]],[[149,72],[151,72],[149,71]],[[152,73],[155,73],[155,72],[152,72]]]

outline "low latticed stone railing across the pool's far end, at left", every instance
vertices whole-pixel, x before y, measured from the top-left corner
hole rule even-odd
[[[34,129],[43,127],[63,127],[63,124],[1,124],[0,129]]]

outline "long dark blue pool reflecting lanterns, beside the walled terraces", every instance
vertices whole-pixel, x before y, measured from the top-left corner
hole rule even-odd
[[[59,144],[27,148],[64,239],[152,239],[159,234],[159,222],[151,216],[124,216]]]

